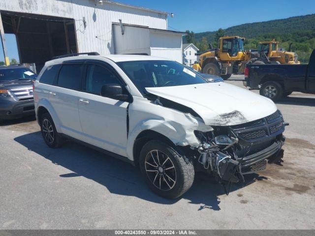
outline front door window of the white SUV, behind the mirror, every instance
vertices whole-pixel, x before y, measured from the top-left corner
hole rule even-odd
[[[88,65],[85,90],[100,95],[103,85],[121,84],[117,76],[109,69],[99,65]]]

